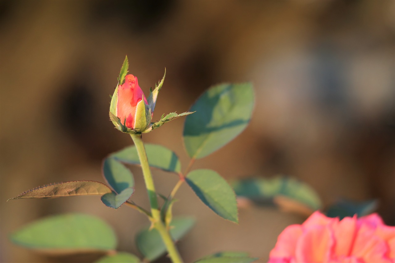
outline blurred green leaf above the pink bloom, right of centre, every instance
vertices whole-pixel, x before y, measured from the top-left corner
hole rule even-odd
[[[248,178],[237,180],[232,186],[236,195],[251,199],[258,205],[273,203],[277,197],[286,197],[313,211],[320,209],[322,205],[314,189],[291,177]]]

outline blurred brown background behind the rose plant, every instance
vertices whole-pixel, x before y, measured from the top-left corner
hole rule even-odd
[[[132,144],[108,117],[125,55],[146,94],[166,67],[154,120],[187,111],[213,84],[254,83],[248,128],[194,168],[227,180],[292,175],[312,186],[324,206],[339,198],[378,199],[386,224],[395,224],[393,0],[3,0],[0,34],[1,262],[70,261],[8,240],[22,225],[63,212],[104,218],[117,231],[119,249],[138,254],[134,235],[148,222],[126,206],[110,209],[100,197],[6,202],[50,182],[104,182],[103,158]],[[185,168],[182,128],[179,118],[144,140],[174,150]],[[147,206],[141,172],[131,169],[133,200]],[[154,180],[167,194],[177,176],[155,170]],[[277,235],[305,220],[252,206],[239,211],[236,225],[186,185],[176,197],[174,213],[198,220],[179,242],[186,262],[223,250],[265,262]]]

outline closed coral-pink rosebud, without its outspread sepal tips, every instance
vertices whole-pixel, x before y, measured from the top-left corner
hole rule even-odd
[[[114,95],[116,96],[113,96],[111,107],[114,105],[115,111],[111,112],[110,109],[110,113],[120,120],[120,123],[117,122],[118,125],[115,126],[124,132],[131,132],[126,128],[134,132],[144,131],[151,122],[152,112],[147,98],[139,87],[137,77],[131,74],[126,75],[125,83],[118,86]]]

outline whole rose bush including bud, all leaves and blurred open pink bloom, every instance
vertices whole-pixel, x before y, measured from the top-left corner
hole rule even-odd
[[[172,208],[178,189],[186,183],[209,209],[235,223],[238,223],[236,194],[243,198],[239,200],[244,200],[239,201],[240,207],[243,203],[246,206],[246,199],[249,199],[257,204],[269,201],[284,210],[311,214],[302,225],[290,225],[280,234],[270,253],[269,263],[395,262],[395,227],[384,225],[377,214],[361,218],[346,216],[339,220],[313,212],[321,209],[320,198],[312,188],[294,178],[248,178],[234,182],[232,188],[211,169],[192,169],[197,160],[223,147],[246,128],[254,106],[250,83],[212,86],[198,98],[190,111],[162,115],[158,121],[152,122],[166,70],[162,80],[146,97],[137,77],[128,74],[128,66],[126,57],[111,97],[109,117],[117,130],[130,135],[134,145],[105,158],[102,171],[107,184],[87,180],[50,184],[11,199],[100,195],[103,204],[109,208],[118,209],[126,205],[147,217],[150,225],[136,235],[143,261],[154,261],[167,253],[171,261],[182,262],[175,242],[192,228],[195,220],[173,216]],[[186,116],[182,137],[190,157],[184,170],[171,149],[143,143],[142,140],[143,134],[181,116]],[[149,208],[133,200],[134,177],[125,164],[141,166]],[[169,193],[156,191],[152,167],[178,177]],[[366,214],[374,204],[367,202],[355,206],[339,202],[327,214]],[[106,255],[97,261],[100,263],[141,261],[129,252],[117,252],[117,239],[112,227],[88,214],[61,214],[38,220],[15,231],[11,240],[26,248],[46,252],[104,252]],[[218,252],[195,262],[249,263],[254,260],[256,258],[243,252]]]

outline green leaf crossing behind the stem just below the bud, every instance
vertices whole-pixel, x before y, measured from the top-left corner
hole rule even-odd
[[[174,173],[181,172],[181,162],[172,150],[162,145],[150,143],[145,143],[144,146],[150,166]],[[123,163],[140,164],[140,159],[134,145],[115,152],[110,157]]]

